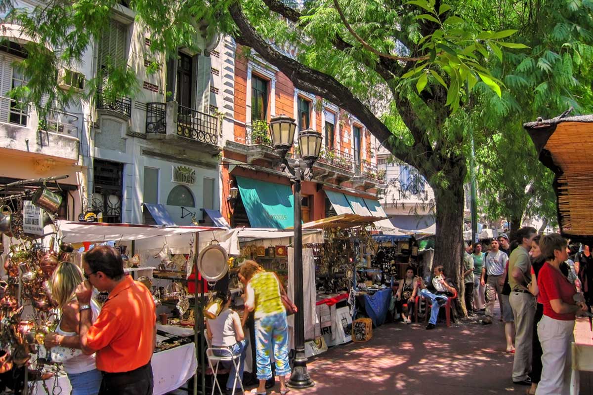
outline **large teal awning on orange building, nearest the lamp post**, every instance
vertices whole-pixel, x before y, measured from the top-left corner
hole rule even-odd
[[[251,227],[285,229],[294,226],[294,197],[288,185],[236,176]]]

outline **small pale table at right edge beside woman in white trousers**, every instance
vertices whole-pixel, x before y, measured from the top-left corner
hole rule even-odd
[[[579,370],[593,372],[593,332],[591,322],[585,317],[576,319],[575,341],[572,343],[570,395],[579,393]]]

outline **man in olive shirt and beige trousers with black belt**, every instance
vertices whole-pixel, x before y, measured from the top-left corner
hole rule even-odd
[[[533,325],[535,319],[535,297],[527,290],[531,282],[531,261],[529,251],[533,238],[537,234],[535,228],[525,226],[516,233],[519,246],[511,252],[509,258],[509,285],[511,295],[509,303],[515,317],[515,359],[513,361],[513,382],[531,385],[528,373],[531,370],[531,353],[533,351]]]

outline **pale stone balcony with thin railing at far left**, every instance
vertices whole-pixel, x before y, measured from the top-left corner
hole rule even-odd
[[[52,110],[39,120],[30,105],[0,97],[0,147],[21,152],[24,156],[39,154],[68,162],[79,155],[79,118]]]

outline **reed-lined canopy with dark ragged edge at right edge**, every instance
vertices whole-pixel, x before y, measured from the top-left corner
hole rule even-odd
[[[593,242],[593,115],[566,117],[524,124],[540,162],[554,172],[553,188],[560,233],[572,240]]]

